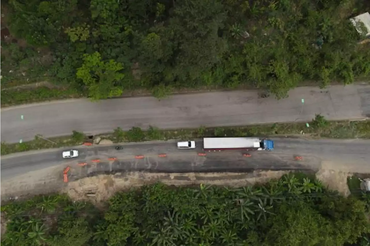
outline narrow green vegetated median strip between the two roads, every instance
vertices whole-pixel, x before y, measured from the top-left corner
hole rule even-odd
[[[307,123],[275,123],[255,126],[238,127],[199,127],[198,129],[161,130],[150,126],[148,130],[132,127],[128,131],[120,127],[112,133],[101,134],[101,139],[111,140],[113,143],[141,142],[153,140],[197,139],[202,137],[309,137],[309,138],[336,138],[336,139],[370,139],[370,121],[327,121],[323,116],[316,117]],[[40,150],[77,146],[84,142],[91,142],[83,133],[73,131],[71,136],[53,137],[44,139],[35,136],[28,142],[8,144],[0,143],[0,155],[21,151]]]

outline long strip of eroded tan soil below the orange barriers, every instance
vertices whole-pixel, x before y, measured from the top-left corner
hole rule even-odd
[[[162,182],[167,185],[211,184],[241,187],[280,178],[288,171],[254,171],[250,173],[147,173],[129,172],[114,175],[97,175],[69,182],[62,192],[71,199],[88,199],[95,204],[107,200],[117,191]]]

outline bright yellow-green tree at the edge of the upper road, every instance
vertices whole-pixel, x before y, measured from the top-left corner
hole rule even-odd
[[[76,76],[88,87],[92,100],[120,96],[122,89],[117,84],[124,78],[120,73],[122,64],[110,60],[101,61],[99,52],[84,55],[84,63],[77,69]]]

